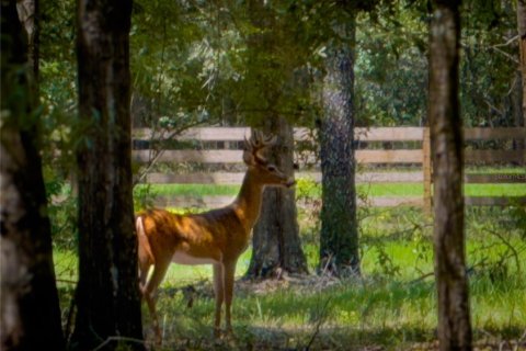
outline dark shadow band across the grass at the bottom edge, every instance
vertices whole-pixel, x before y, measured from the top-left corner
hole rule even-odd
[[[419,327],[364,330],[347,326],[317,329],[236,325],[233,336],[215,339],[211,327],[188,331],[187,325],[174,320],[165,331],[163,346],[156,350],[438,350],[436,330]],[[523,332],[518,327],[507,330],[507,336],[474,330],[474,350],[526,350]],[[153,340],[151,331],[146,339]]]

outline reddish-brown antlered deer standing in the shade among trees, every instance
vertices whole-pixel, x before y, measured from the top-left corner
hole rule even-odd
[[[221,336],[221,308],[225,304],[226,333],[232,333],[231,305],[236,264],[248,248],[251,231],[261,211],[266,186],[291,188],[287,177],[264,156],[276,136],[254,131],[244,138],[242,159],[247,171],[233,202],[198,214],[173,214],[153,208],[136,215],[139,286],[153,322],[157,342],[162,342],[156,312],[156,292],[170,263],[211,264],[215,295],[214,337]],[[153,270],[148,274],[151,267]]]

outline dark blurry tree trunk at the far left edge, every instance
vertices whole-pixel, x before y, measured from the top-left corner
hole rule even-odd
[[[0,279],[2,350],[64,350],[39,116],[15,1],[1,1]]]

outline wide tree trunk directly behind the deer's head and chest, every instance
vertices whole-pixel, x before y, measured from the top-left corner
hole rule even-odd
[[[278,116],[267,120],[267,134],[277,135],[277,145],[268,159],[285,174],[294,174],[293,127]],[[307,261],[301,249],[294,189],[267,188],[263,194],[260,220],[254,227],[253,253],[247,275],[274,278],[281,272],[307,273]]]

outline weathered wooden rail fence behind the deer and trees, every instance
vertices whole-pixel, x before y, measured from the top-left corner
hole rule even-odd
[[[306,128],[295,128],[295,140],[312,143],[311,133]],[[146,145],[146,149],[135,149],[133,159],[138,163],[148,163],[152,159],[158,162],[173,163],[201,163],[201,165],[237,165],[242,162],[241,145],[244,137],[250,136],[250,128],[245,127],[204,127],[192,128],[176,136],[180,143],[190,143],[192,148],[156,150],[150,145],[167,141],[170,133],[159,134],[148,128],[134,129],[134,145]],[[465,140],[510,144],[513,139],[524,139],[526,128],[466,128]],[[392,149],[364,149],[356,150],[358,165],[404,166],[411,165],[416,171],[367,171],[358,172],[358,183],[422,183],[424,195],[422,197],[373,197],[368,204],[373,206],[416,205],[431,211],[432,205],[432,165],[430,131],[423,127],[392,127],[392,128],[356,128],[355,139],[358,147],[364,145],[388,144]],[[395,148],[400,146],[401,148]],[[408,145],[411,148],[408,148]],[[215,146],[215,147],[211,147]],[[219,146],[219,147],[218,147]],[[297,155],[302,160],[316,165],[313,152]],[[494,165],[514,163],[526,165],[524,150],[513,149],[473,149],[467,147],[465,151],[467,165]],[[302,163],[300,163],[302,165]],[[380,167],[377,167],[380,168]],[[149,173],[145,178],[148,183],[197,183],[197,184],[240,184],[244,172],[190,172],[190,173]],[[315,181],[321,180],[321,173],[300,167],[296,178],[308,177]],[[526,183],[526,171],[515,173],[469,173],[465,177],[466,183]],[[231,201],[229,196],[205,196],[195,199],[188,196],[160,197],[160,206],[205,206],[215,207]],[[526,197],[466,197],[467,205],[507,205],[510,203],[526,203]]]

